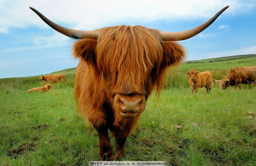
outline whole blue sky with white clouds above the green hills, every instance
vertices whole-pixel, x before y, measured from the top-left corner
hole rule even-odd
[[[71,29],[130,24],[183,31],[201,25],[227,5],[206,30],[180,42],[188,52],[187,60],[256,54],[255,0],[0,0],[0,78],[47,74],[77,65],[70,54],[76,40],[48,27],[29,6]]]

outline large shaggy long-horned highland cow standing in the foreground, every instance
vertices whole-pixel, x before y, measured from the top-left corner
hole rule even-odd
[[[59,26],[31,8],[53,29],[81,39],[72,48],[80,60],[74,94],[79,111],[98,131],[100,160],[124,155],[127,136],[144,111],[148,96],[155,86],[159,96],[167,67],[185,57],[184,48],[175,41],[197,35],[227,8],[206,23],[181,32],[130,25],[80,31]],[[108,130],[115,137],[114,157]]]

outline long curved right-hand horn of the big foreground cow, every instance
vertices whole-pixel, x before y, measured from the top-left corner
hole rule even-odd
[[[228,7],[229,6],[224,7],[216,15],[214,15],[211,19],[209,19],[204,24],[202,24],[196,28],[185,30],[185,31],[180,31],[180,32],[161,31],[161,34],[163,35],[163,40],[180,41],[180,40],[189,39],[189,38],[199,34],[201,31],[205,30],[208,26],[210,26],[219,17],[219,15],[222,12],[224,12]]]

